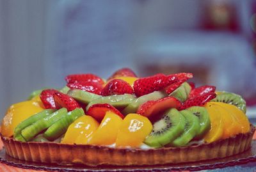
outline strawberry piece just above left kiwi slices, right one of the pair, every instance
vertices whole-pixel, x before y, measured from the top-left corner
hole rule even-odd
[[[74,98],[60,92],[54,93],[54,102],[57,109],[66,107],[68,111],[72,111],[77,107],[80,107]]]

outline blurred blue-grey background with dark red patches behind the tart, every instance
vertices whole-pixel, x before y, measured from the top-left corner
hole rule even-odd
[[[0,0],[0,113],[67,74],[193,72],[256,116],[256,1]]]

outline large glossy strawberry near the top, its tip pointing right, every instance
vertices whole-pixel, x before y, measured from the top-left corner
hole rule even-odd
[[[147,95],[154,91],[162,90],[177,81],[177,77],[167,77],[164,74],[156,74],[150,77],[137,79],[133,84],[134,93],[137,97]]]

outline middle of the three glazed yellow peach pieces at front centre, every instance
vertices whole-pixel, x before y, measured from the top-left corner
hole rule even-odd
[[[108,111],[101,121],[99,128],[95,130],[90,139],[88,139],[88,144],[112,145],[116,141],[116,136],[121,124],[122,118]]]

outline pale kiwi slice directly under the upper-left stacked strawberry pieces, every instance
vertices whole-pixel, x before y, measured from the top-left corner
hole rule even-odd
[[[70,97],[73,97],[77,101],[82,102],[84,104],[88,104],[89,102],[92,102],[92,100],[102,97],[100,95],[96,95],[88,91],[77,90],[77,89],[69,90],[67,94]]]

